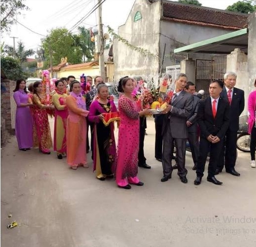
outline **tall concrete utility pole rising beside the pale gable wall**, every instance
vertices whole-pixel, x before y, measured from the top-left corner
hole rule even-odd
[[[101,0],[98,0],[98,4],[101,3]],[[103,28],[102,28],[102,17],[101,17],[101,5],[98,6],[98,15],[97,15],[97,22],[98,22],[98,34],[99,34],[99,68],[100,68],[100,76],[103,78],[105,82],[105,62],[104,62],[104,38],[103,38]]]

